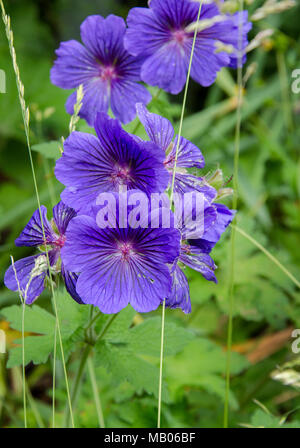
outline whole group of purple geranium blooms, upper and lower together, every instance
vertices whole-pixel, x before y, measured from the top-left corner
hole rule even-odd
[[[48,221],[42,206],[16,240],[17,246],[40,250],[10,266],[5,275],[6,286],[19,290],[26,303],[41,294],[49,271],[54,278],[62,276],[78,303],[95,305],[103,313],[116,313],[128,303],[139,312],[148,312],[164,300],[166,306],[189,313],[185,266],[216,282],[210,252],[234,211],[216,202],[218,193],[205,177],[189,173],[189,168],[204,167],[200,149],[183,137],[174,138],[171,123],[147,110],[151,96],[139,84],[144,81],[180,92],[193,39],[189,25],[196,21],[198,10],[199,4],[190,0],[151,0],[149,8],[130,11],[127,29],[119,17],[90,16],[81,26],[84,45],[68,41],[57,50],[52,82],[66,89],[83,84],[80,115],[94,127],[95,135],[75,131],[66,139],[55,168],[65,190],[53,209],[53,219]],[[201,19],[219,15],[215,4],[202,6]],[[235,54],[216,53],[215,43],[238,48],[239,17],[223,16],[197,33],[191,76],[200,84],[210,85],[221,67],[236,62]],[[244,48],[250,24],[246,15],[240,18]],[[70,114],[75,103],[73,93],[66,106]],[[117,119],[107,115],[109,106]],[[125,132],[120,124],[133,120],[136,113],[147,141]],[[203,195],[201,233],[191,239],[187,220],[176,223],[170,209],[172,225],[168,228],[161,219],[149,227],[143,216],[138,217],[139,225],[122,225],[124,215],[131,219],[135,192],[150,198],[153,193],[170,193],[172,186],[177,198],[192,191]],[[120,206],[122,188],[129,193],[126,207]],[[119,205],[113,226],[97,224],[100,193],[112,193]],[[150,214],[160,217],[164,209],[165,204],[151,206]],[[189,219],[193,219],[193,209]]]

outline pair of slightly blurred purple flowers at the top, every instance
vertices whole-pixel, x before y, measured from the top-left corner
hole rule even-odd
[[[151,100],[139,82],[172,94],[183,89],[194,36],[189,26],[196,22],[198,11],[198,1],[150,0],[149,8],[131,9],[127,29],[120,17],[89,16],[80,29],[83,45],[70,40],[56,51],[51,81],[63,89],[83,85],[80,116],[89,125],[94,125],[97,112],[107,112],[109,107],[116,118],[128,123],[136,115],[136,103],[146,105]],[[247,18],[247,11],[221,14],[213,2],[202,5],[200,23],[211,23],[197,33],[191,67],[196,82],[209,86],[222,67],[236,67],[238,51],[244,53],[248,43]],[[230,46],[231,53],[222,46]],[[76,92],[67,101],[68,113],[73,113],[75,103]]]

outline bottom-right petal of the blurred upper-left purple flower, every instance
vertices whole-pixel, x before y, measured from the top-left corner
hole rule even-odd
[[[151,94],[146,87],[129,80],[116,82],[111,89],[111,109],[114,115],[129,123],[136,116],[136,103],[148,104]]]

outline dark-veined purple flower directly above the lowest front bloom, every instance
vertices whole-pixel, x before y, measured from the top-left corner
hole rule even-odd
[[[97,115],[95,130],[97,137],[73,132],[56,163],[56,177],[67,187],[61,195],[66,204],[88,213],[99,193],[120,186],[147,193],[166,189],[169,176],[158,146],[134,140],[103,113]]]

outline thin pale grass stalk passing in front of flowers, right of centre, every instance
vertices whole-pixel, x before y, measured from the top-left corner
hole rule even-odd
[[[193,62],[193,56],[194,56],[194,50],[195,50],[195,44],[196,44],[196,38],[197,38],[197,25],[199,24],[199,20],[200,20],[202,3],[203,3],[203,0],[200,0],[197,20],[195,22],[196,26],[195,26],[193,43],[192,43],[192,48],[191,48],[191,54],[190,54],[190,60],[189,60],[189,67],[188,67],[188,72],[187,72],[186,84],[185,84],[185,89],[184,89],[184,94],[183,94],[183,102],[182,102],[182,108],[181,108],[179,130],[178,130],[178,136],[177,136],[177,145],[176,145],[176,152],[175,152],[175,161],[174,161],[174,167],[173,167],[173,173],[172,173],[172,185],[171,185],[171,192],[170,192],[170,206],[171,207],[172,207],[173,195],[174,195],[174,184],[175,184],[175,175],[176,175],[176,167],[177,167],[177,157],[178,157],[180,139],[181,139],[181,135],[182,135],[183,118],[184,118],[184,113],[185,113],[187,93],[188,93],[188,88],[189,88],[189,83],[190,83],[191,68],[192,68],[192,62]],[[160,428],[160,423],[161,423],[161,396],[162,396],[162,375],[163,375],[163,358],[164,358],[165,308],[166,308],[166,303],[165,303],[165,300],[164,300],[163,304],[162,304],[162,318],[161,318],[161,344],[160,344],[158,406],[157,406],[158,407],[158,414],[157,414],[157,427],[158,428]]]

